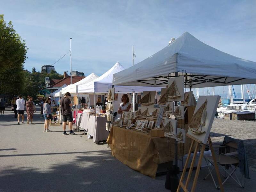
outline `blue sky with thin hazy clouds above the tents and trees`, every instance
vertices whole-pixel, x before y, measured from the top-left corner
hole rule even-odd
[[[0,0],[0,14],[12,21],[28,46],[31,71],[51,65],[69,51],[72,70],[102,75],[119,61],[124,68],[148,58],[188,31],[220,51],[256,61],[256,1]],[[67,54],[54,64],[70,71]],[[221,70],[221,69],[220,69]]]

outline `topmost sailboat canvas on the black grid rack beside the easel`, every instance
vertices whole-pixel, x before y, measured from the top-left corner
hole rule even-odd
[[[184,100],[184,76],[168,79],[167,102]]]

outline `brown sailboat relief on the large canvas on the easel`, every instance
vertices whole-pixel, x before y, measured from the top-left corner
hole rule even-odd
[[[203,105],[201,105],[201,107],[194,113],[191,118],[191,122],[188,124],[190,131],[195,135],[205,133],[205,131],[202,131],[202,128],[205,125],[206,105],[207,100],[205,100]]]

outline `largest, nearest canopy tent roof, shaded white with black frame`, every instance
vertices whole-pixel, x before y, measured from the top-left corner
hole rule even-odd
[[[163,86],[186,72],[186,88],[256,83],[256,62],[221,52],[185,32],[164,49],[113,75],[113,85]],[[178,74],[179,75],[179,74]]]

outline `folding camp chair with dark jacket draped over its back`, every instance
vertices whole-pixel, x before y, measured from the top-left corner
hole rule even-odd
[[[239,165],[239,158],[238,158],[238,152],[237,152],[237,143],[236,142],[228,142],[225,143],[220,147],[220,151],[223,151],[224,153],[220,153],[219,156],[216,156],[217,164],[220,165],[220,167],[224,170],[224,173],[220,171],[220,174],[222,174],[225,178],[223,181],[222,185],[228,180],[228,178],[233,178],[233,180],[236,181],[236,183],[241,187],[244,188],[244,175],[242,175],[242,183],[238,179],[236,175],[236,169]],[[228,153],[227,153],[228,152]],[[204,156],[204,159],[206,161],[209,173],[206,175],[204,180],[211,175],[213,183],[216,187],[216,189],[220,189],[220,187],[217,187],[216,182],[213,178],[212,175],[212,170],[214,170],[214,164],[213,164],[213,159],[212,156]],[[212,164],[213,168],[210,169],[208,162]],[[228,171],[228,168],[231,169],[231,172]],[[226,176],[228,174],[228,176]]]

